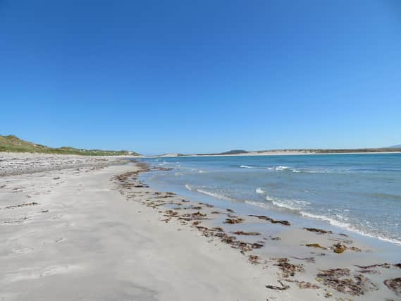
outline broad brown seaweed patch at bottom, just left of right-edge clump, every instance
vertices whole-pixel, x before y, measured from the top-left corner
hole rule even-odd
[[[378,289],[369,278],[362,274],[355,275],[354,279],[350,278],[350,269],[328,269],[321,271],[316,276],[317,281],[338,290],[340,293],[364,295],[368,290]]]

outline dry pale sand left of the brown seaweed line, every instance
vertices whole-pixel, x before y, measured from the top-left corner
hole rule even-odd
[[[113,190],[132,168],[0,178],[0,300],[266,300],[242,255]]]

